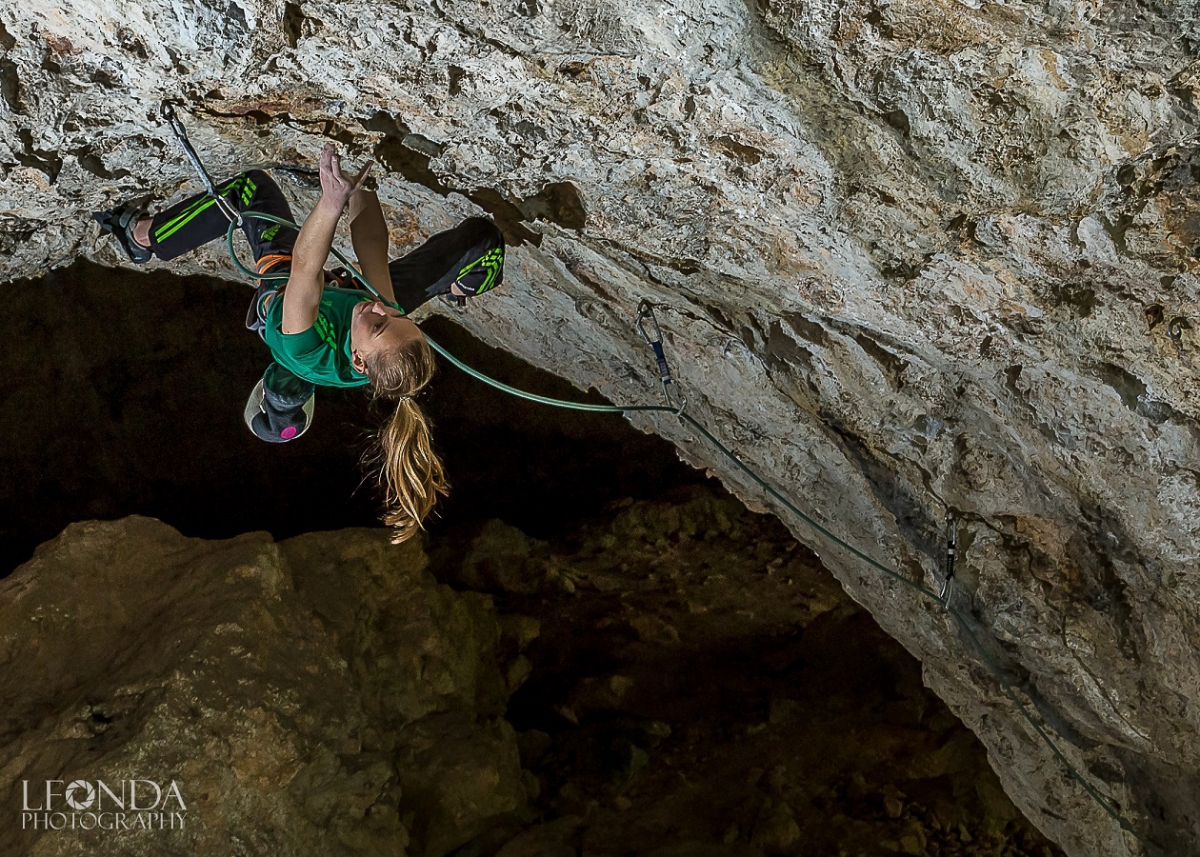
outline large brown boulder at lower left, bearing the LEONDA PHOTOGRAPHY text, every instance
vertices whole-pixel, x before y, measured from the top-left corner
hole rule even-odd
[[[383,531],[68,527],[0,582],[0,852],[445,853],[521,810],[494,611],[425,567]]]

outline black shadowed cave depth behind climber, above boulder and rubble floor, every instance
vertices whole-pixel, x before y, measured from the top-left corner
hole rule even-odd
[[[202,538],[378,525],[379,492],[359,465],[382,420],[368,396],[322,389],[294,443],[246,430],[246,396],[270,359],[241,324],[246,286],[79,262],[7,290],[4,574],[84,519],[149,515]],[[443,318],[424,326],[516,386],[602,401]],[[452,487],[426,522],[433,539],[485,517],[548,535],[616,498],[704,481],[619,416],[515,400],[444,361],[421,403]]]

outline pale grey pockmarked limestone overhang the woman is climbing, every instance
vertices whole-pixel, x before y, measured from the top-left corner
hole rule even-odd
[[[1200,853],[1188,4],[78,0],[0,8],[4,275],[125,264],[88,212],[278,168],[380,164],[396,250],[480,210],[512,246],[466,323],[650,401],[659,307],[689,412],[941,611],[775,508],[918,655],[1068,853]],[[155,263],[156,264],[156,263]],[[218,248],[172,265],[233,276]],[[757,486],[670,418],[740,496]],[[773,502],[772,502],[773,503]],[[772,505],[768,503],[768,505]],[[774,505],[772,505],[774,508]]]

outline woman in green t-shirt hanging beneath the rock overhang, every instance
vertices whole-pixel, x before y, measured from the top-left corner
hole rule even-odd
[[[299,232],[242,218],[256,271],[287,275],[260,280],[247,313],[246,326],[259,332],[275,362],[251,394],[246,422],[264,441],[299,437],[312,421],[313,385],[370,385],[377,398],[394,402],[395,410],[377,435],[374,460],[386,495],[383,520],[394,529],[392,541],[401,543],[416,533],[438,495],[449,490],[415,401],[433,376],[433,352],[406,311],[437,295],[454,295],[461,302],[499,286],[504,239],[490,220],[470,217],[389,262],[383,209],[364,187],[371,166],[347,175],[334,148],[326,145],[320,154],[320,199]],[[217,188],[239,212],[260,211],[292,221],[283,193],[263,170],[242,173]],[[384,301],[353,288],[344,271],[324,270],[347,208],[361,274]],[[122,205],[95,217],[139,264],[154,257],[173,259],[223,236],[229,224],[206,194],[154,216]]]

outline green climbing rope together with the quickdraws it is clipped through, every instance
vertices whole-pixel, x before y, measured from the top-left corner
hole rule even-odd
[[[170,122],[172,130],[175,132],[175,136],[179,138],[180,143],[182,144],[184,150],[187,152],[188,160],[192,161],[192,166],[194,166],[196,169],[197,169],[197,172],[200,174],[200,178],[204,181],[204,185],[208,188],[209,194],[214,199],[216,199],[218,202],[218,204],[221,204],[223,200],[220,197],[220,194],[217,193],[216,186],[214,185],[212,179],[209,176],[208,172],[204,169],[204,164],[200,162],[199,156],[196,155],[196,151],[191,148],[191,144],[187,142],[187,133],[184,131],[182,125],[179,122],[179,119],[175,116],[174,109],[172,109],[169,107],[169,104],[164,103],[163,108],[162,108],[162,113],[163,113],[163,116],[167,119],[167,121]],[[226,206],[228,206],[228,209]],[[263,212],[258,212],[258,211],[246,211],[245,214],[239,214],[236,210],[233,210],[233,214],[230,215],[229,214],[230,209],[232,209],[232,206],[228,204],[228,202],[224,202],[224,204],[222,205],[222,211],[226,211],[226,216],[229,217],[229,228],[226,232],[226,246],[227,246],[227,248],[229,251],[229,256],[230,256],[234,265],[238,268],[238,270],[240,270],[242,274],[245,274],[245,275],[247,275],[247,276],[250,276],[250,277],[252,277],[254,280],[259,280],[259,281],[263,281],[263,280],[287,280],[288,276],[289,276],[287,274],[283,274],[283,275],[266,275],[266,276],[264,276],[264,275],[259,274],[258,271],[253,271],[253,270],[246,268],[246,265],[244,265],[241,263],[241,260],[238,258],[238,253],[236,253],[236,251],[234,248],[234,244],[233,244],[233,235],[234,235],[234,230],[242,223],[242,218],[244,217],[258,218],[258,220],[266,220],[266,221],[270,221],[270,222],[274,222],[274,223],[278,223],[281,226],[290,227],[293,229],[298,229],[299,227],[295,223],[293,223],[292,221],[288,221],[288,220],[286,220],[283,217],[276,217],[274,215],[263,214]],[[368,283],[366,281],[366,277],[364,277],[354,268],[354,265],[349,262],[349,259],[347,259],[341,252],[338,252],[336,248],[332,248],[330,252],[331,252],[331,254],[335,258],[337,258],[338,262],[341,262],[343,265],[346,265],[347,271],[355,280],[359,281],[359,283],[362,286],[362,288],[365,288],[368,293],[373,294],[377,299],[379,299],[379,300],[384,301],[385,304],[389,304],[390,306],[396,307],[396,308],[398,308],[398,310],[401,310],[403,312],[403,307],[400,307],[395,301],[389,301],[383,295],[380,295],[371,286],[371,283]],[[647,323],[649,324],[649,328],[647,328]],[[660,376],[659,379],[660,379],[660,382],[662,384],[662,394],[666,397],[666,402],[667,402],[665,406],[662,406],[662,404],[587,404],[587,403],[583,403],[583,402],[571,402],[571,401],[566,401],[566,400],[562,400],[562,398],[551,398],[548,396],[539,396],[536,394],[528,392],[526,390],[520,390],[520,389],[517,389],[515,386],[509,386],[508,384],[500,383],[499,380],[496,380],[494,378],[484,374],[479,370],[475,370],[475,368],[468,366],[462,360],[460,360],[458,358],[456,358],[452,354],[450,354],[450,352],[448,352],[442,346],[439,346],[437,342],[434,342],[432,338],[430,338],[428,335],[426,335],[425,338],[430,343],[430,347],[432,347],[438,354],[440,354],[442,356],[444,356],[448,361],[450,361],[457,368],[462,370],[463,372],[466,372],[467,374],[472,376],[473,378],[476,378],[476,379],[484,382],[485,384],[487,384],[490,386],[493,386],[497,390],[500,390],[502,392],[506,392],[506,394],[516,396],[518,398],[524,398],[524,400],[530,401],[530,402],[539,402],[541,404],[548,404],[548,406],[557,407],[557,408],[568,408],[568,409],[572,409],[572,410],[589,410],[589,412],[595,412],[595,413],[616,413],[616,414],[664,413],[664,414],[673,414],[677,419],[679,419],[680,422],[685,422],[686,425],[691,426],[691,428],[694,428],[698,435],[701,435],[704,439],[707,439],[714,448],[716,448],[742,473],[744,473],[746,477],[749,477],[764,492],[767,492],[778,503],[780,503],[780,505],[782,505],[785,509],[787,509],[790,513],[792,513],[796,517],[798,517],[800,521],[803,521],[805,525],[808,525],[817,534],[824,537],[826,539],[828,539],[833,544],[838,545],[839,547],[841,547],[842,550],[845,550],[846,552],[848,552],[851,556],[857,557],[858,559],[863,561],[865,564],[870,565],[875,570],[881,571],[886,576],[888,576],[888,577],[890,577],[890,579],[893,579],[893,580],[895,580],[895,581],[905,585],[906,587],[908,587],[911,589],[914,589],[916,592],[920,593],[922,595],[925,595],[926,598],[936,601],[948,616],[950,616],[950,617],[954,618],[955,623],[959,627],[959,630],[962,633],[962,635],[967,640],[971,641],[971,645],[974,648],[976,653],[978,654],[980,663],[983,663],[983,665],[988,669],[988,671],[991,673],[991,676],[996,679],[996,682],[1000,684],[1001,689],[1004,691],[1004,695],[1013,703],[1013,706],[1021,713],[1022,718],[1038,733],[1038,736],[1042,738],[1042,741],[1045,743],[1045,745],[1050,749],[1050,751],[1054,754],[1054,756],[1056,759],[1058,759],[1060,763],[1062,763],[1062,766],[1067,769],[1067,773],[1070,775],[1070,778],[1073,780],[1075,780],[1084,789],[1085,792],[1087,792],[1087,795],[1097,803],[1097,805],[1099,805],[1100,809],[1103,809],[1104,813],[1108,814],[1109,817],[1111,817],[1121,827],[1122,831],[1124,831],[1126,833],[1130,834],[1139,843],[1141,843],[1142,846],[1145,846],[1145,849],[1146,849],[1146,851],[1148,853],[1154,855],[1156,857],[1166,857],[1166,852],[1163,851],[1162,847],[1159,847],[1154,843],[1152,843],[1148,839],[1146,839],[1146,837],[1142,835],[1124,817],[1124,815],[1120,810],[1120,807],[1117,807],[1110,798],[1105,797],[1104,795],[1100,795],[1100,792],[1087,779],[1085,779],[1082,774],[1079,773],[1079,771],[1075,768],[1075,766],[1070,763],[1070,761],[1067,759],[1067,756],[1058,748],[1058,744],[1054,741],[1054,738],[1050,737],[1050,735],[1042,727],[1042,725],[1030,713],[1030,711],[1026,707],[1026,705],[1024,702],[1021,702],[1021,700],[1016,696],[1016,691],[1014,690],[1013,684],[1004,677],[1004,671],[1000,667],[1000,665],[996,664],[996,661],[992,658],[992,655],[989,653],[989,651],[986,649],[986,647],[983,645],[983,641],[979,640],[979,636],[976,634],[974,629],[971,627],[971,623],[968,622],[967,617],[965,617],[955,606],[953,606],[953,604],[952,604],[952,597],[953,597],[953,581],[954,581],[954,563],[955,563],[955,558],[956,558],[956,553],[958,553],[958,534],[956,534],[956,527],[954,525],[954,519],[953,517],[948,519],[949,534],[947,537],[947,556],[946,556],[946,571],[947,571],[947,574],[946,574],[946,582],[943,583],[943,586],[942,586],[942,588],[941,588],[940,592],[935,592],[934,589],[930,589],[929,587],[923,586],[922,583],[918,583],[914,580],[910,580],[908,577],[906,577],[905,575],[902,575],[900,571],[896,571],[894,569],[888,568],[887,565],[883,565],[882,563],[880,563],[875,558],[870,557],[869,555],[864,553],[863,551],[860,551],[857,547],[854,547],[853,545],[851,545],[848,541],[846,541],[841,537],[836,535],[832,531],[829,531],[826,527],[823,527],[822,525],[817,523],[817,521],[815,521],[808,514],[805,514],[804,511],[802,511],[794,503],[792,503],[787,497],[785,497],[782,493],[780,493],[774,486],[772,486],[769,483],[767,483],[767,480],[764,480],[755,471],[752,471],[745,462],[743,462],[742,459],[739,459],[738,455],[733,450],[731,450],[728,447],[726,447],[724,443],[721,443],[710,431],[708,431],[708,428],[706,428],[703,425],[701,425],[700,421],[696,420],[695,416],[692,416],[690,413],[686,413],[685,408],[686,408],[686,404],[688,404],[688,400],[686,400],[685,396],[683,396],[682,394],[678,392],[678,390],[677,390],[677,383],[676,383],[676,380],[671,376],[671,368],[667,365],[666,354],[665,354],[664,347],[662,347],[662,331],[659,328],[658,319],[654,316],[654,308],[653,308],[653,306],[650,305],[649,301],[642,300],[637,305],[637,316],[636,316],[636,319],[635,319],[635,326],[637,328],[638,332],[642,335],[642,338],[644,338],[646,342],[649,343],[650,348],[654,350],[654,358],[655,358],[655,361],[658,362],[658,367],[659,367],[659,376]],[[1181,331],[1181,334],[1182,334],[1182,331]]]

